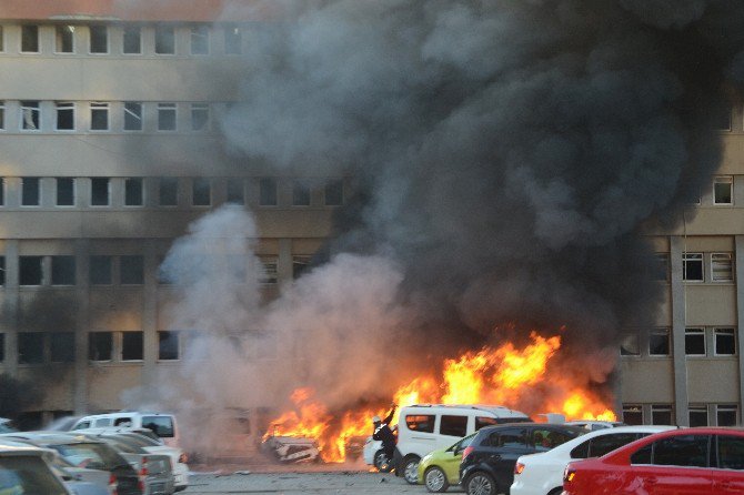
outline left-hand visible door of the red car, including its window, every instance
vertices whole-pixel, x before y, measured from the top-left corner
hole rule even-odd
[[[712,492],[710,435],[661,438],[631,456],[623,469],[622,493],[647,495],[710,495]]]

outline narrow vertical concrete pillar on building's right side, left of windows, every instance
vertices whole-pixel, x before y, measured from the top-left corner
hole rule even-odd
[[[684,238],[673,235],[670,245],[672,269],[672,357],[674,360],[674,414],[678,426],[688,426],[687,358],[685,356],[686,294],[682,256]]]

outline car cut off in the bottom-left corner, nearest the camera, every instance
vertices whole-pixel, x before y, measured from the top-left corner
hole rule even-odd
[[[0,443],[0,494],[73,495],[48,464],[49,453]]]

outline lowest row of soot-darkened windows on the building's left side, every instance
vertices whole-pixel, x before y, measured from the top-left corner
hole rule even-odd
[[[0,333],[0,361],[6,358],[6,335]],[[91,362],[129,362],[143,360],[142,332],[90,332],[88,360]],[[19,332],[18,364],[74,363],[73,332]],[[158,332],[158,361],[181,357],[180,332]]]

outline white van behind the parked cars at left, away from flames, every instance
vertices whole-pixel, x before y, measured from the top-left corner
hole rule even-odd
[[[175,416],[163,413],[143,413],[138,411],[120,411],[118,413],[93,414],[78,420],[70,430],[110,428],[129,426],[148,428],[162,438],[171,447],[179,446],[179,431]]]

